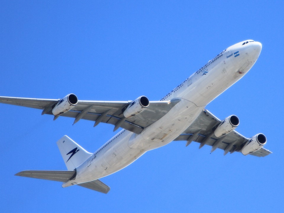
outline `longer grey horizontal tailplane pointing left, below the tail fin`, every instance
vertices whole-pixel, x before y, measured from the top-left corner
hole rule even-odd
[[[75,171],[52,171],[52,170],[26,170],[15,174],[17,176],[38,178],[44,180],[54,180],[67,182],[75,175]]]

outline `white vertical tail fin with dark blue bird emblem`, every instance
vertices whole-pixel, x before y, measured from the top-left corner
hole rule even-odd
[[[69,171],[80,166],[92,155],[92,153],[87,152],[67,135],[64,135],[57,141],[57,146]]]

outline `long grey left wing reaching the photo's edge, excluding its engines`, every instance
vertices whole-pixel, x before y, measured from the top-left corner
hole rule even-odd
[[[0,103],[26,106],[36,109],[42,109],[42,114],[52,115],[52,106],[60,99],[32,99],[17,97],[1,97]],[[61,114],[63,117],[75,118],[74,123],[80,119],[96,121],[95,125],[100,122],[114,125],[114,130],[122,127],[136,134],[147,126],[163,117],[170,109],[175,106],[180,99],[171,101],[150,101],[149,106],[141,113],[125,119],[123,109],[132,101],[78,101],[75,107],[70,111]],[[54,117],[54,120],[57,117]],[[94,126],[95,126],[94,125]]]

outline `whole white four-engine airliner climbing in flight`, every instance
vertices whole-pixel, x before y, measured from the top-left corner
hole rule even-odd
[[[236,43],[220,52],[159,101],[140,96],[134,101],[80,101],[75,94],[63,99],[0,97],[0,103],[42,109],[42,114],[73,117],[123,128],[96,152],[90,153],[64,135],[57,141],[67,171],[26,170],[15,175],[63,182],[62,187],[79,185],[102,193],[110,188],[99,179],[111,175],[141,157],[147,151],[171,141],[192,141],[227,153],[264,157],[267,142],[259,133],[246,138],[235,131],[236,115],[224,120],[205,109],[206,105],[240,80],[255,64],[262,44],[253,40]]]

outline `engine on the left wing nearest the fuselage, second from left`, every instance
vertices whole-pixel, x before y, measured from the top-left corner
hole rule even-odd
[[[123,112],[123,116],[130,118],[149,106],[149,99],[146,96],[140,96],[132,101]]]

